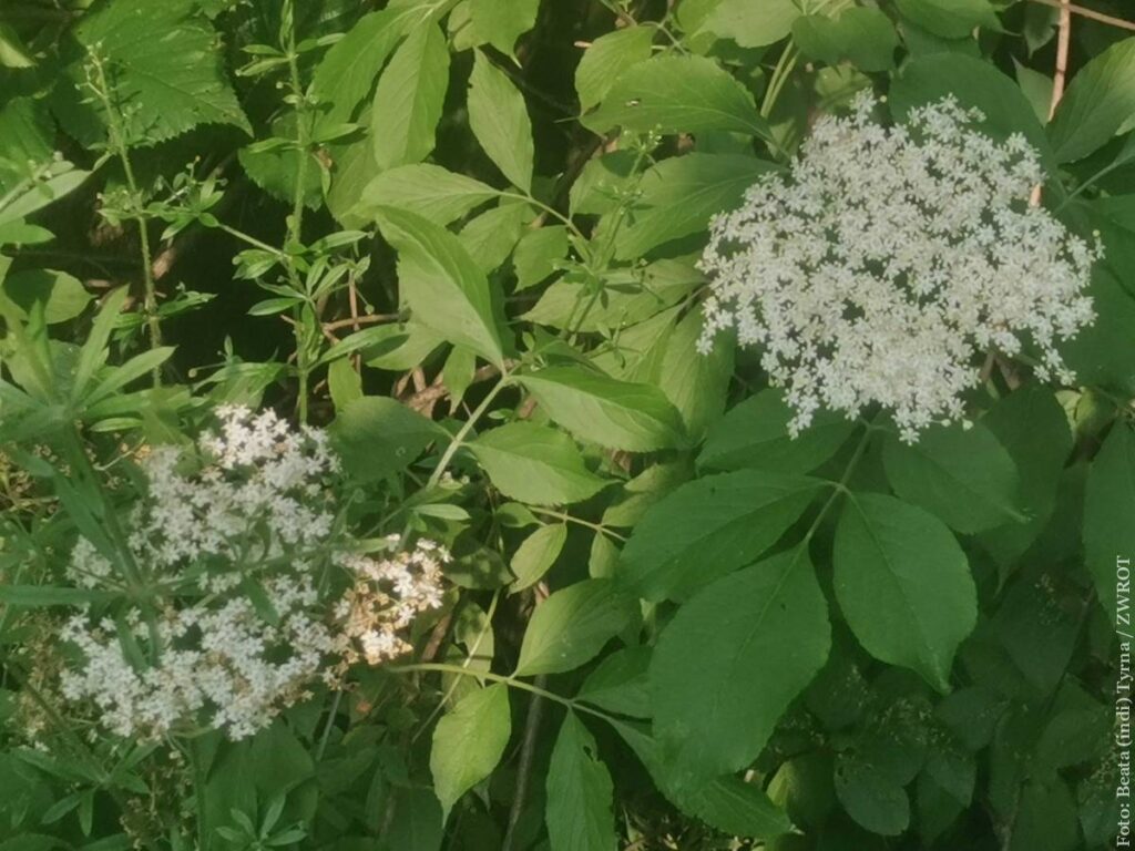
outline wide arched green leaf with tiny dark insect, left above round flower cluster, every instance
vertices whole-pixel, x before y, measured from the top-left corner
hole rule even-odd
[[[632,133],[726,130],[766,138],[770,133],[748,90],[698,56],[661,56],[631,66],[603,106],[580,120],[596,133],[616,126]]]

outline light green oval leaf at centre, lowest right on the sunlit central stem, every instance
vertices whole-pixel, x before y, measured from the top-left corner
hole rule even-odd
[[[497,490],[530,505],[579,503],[607,483],[583,465],[570,437],[546,426],[501,426],[479,435],[469,449]]]

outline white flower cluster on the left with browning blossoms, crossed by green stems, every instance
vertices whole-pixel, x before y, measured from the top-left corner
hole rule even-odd
[[[338,529],[337,462],[321,431],[293,431],[271,412],[218,414],[220,433],[199,441],[203,466],[183,472],[173,448],[142,461],[148,498],[131,515],[128,557],[160,593],[62,631],[81,657],[62,673],[64,697],[93,702],[119,735],[195,725],[251,735],[313,683],[407,650],[402,633],[442,603],[444,548],[401,551],[394,536],[373,557]],[[81,587],[121,585],[85,538],[69,572]]]

